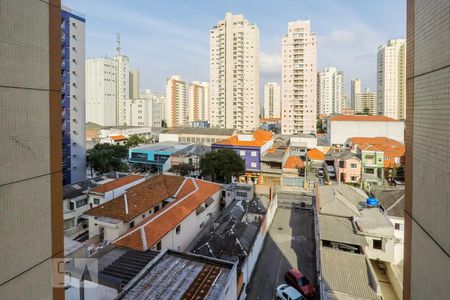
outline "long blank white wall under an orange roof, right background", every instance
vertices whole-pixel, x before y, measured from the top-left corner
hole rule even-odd
[[[404,143],[405,123],[331,120],[327,131],[330,145],[343,145],[351,137],[388,137]]]

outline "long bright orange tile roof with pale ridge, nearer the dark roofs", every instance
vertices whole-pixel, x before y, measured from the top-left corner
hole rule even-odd
[[[196,190],[194,181],[198,190]],[[222,186],[216,183],[193,178],[186,179],[175,201],[148,216],[113,243],[140,251],[151,248],[221,188]],[[147,247],[142,244],[141,228],[145,233]]]

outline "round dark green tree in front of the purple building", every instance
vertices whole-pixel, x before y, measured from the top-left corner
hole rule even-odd
[[[245,171],[245,160],[234,150],[218,149],[206,153],[200,159],[200,170],[203,176],[212,181],[230,183],[232,176],[239,176]]]

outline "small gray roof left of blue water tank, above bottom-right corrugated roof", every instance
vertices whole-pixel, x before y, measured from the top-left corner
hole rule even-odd
[[[350,245],[364,246],[366,240],[356,234],[349,218],[319,215],[320,239]]]

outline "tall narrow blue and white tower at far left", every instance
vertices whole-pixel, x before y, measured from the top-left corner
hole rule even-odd
[[[61,10],[63,184],[86,179],[85,19]]]

